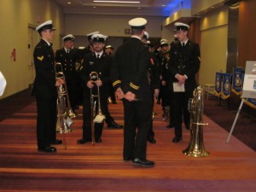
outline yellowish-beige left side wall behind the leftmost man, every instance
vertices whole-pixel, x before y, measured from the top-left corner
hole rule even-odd
[[[0,6],[0,70],[7,80],[6,90],[1,97],[13,95],[20,90],[25,90],[32,84],[34,69],[31,64],[32,49],[28,26],[38,26],[40,22],[53,20],[55,28],[54,44],[59,45],[59,33],[63,29],[63,14],[54,1],[44,0],[2,0]],[[38,22],[39,21],[39,22]],[[36,35],[36,41],[39,35]],[[58,46],[59,47],[59,46]],[[16,61],[10,58],[11,51],[16,49]]]

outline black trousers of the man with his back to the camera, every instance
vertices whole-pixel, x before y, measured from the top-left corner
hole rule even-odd
[[[146,159],[147,137],[152,120],[151,102],[123,99],[125,111],[124,157]]]

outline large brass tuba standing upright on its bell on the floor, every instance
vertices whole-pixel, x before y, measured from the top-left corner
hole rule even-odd
[[[206,157],[210,153],[206,151],[203,143],[203,99],[204,88],[199,85],[193,92],[193,98],[189,100],[190,112],[190,141],[189,146],[183,150],[183,154],[192,157]]]

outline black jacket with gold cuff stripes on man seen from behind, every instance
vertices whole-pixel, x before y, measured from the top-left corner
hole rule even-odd
[[[150,57],[148,48],[138,38],[122,44],[114,55],[111,78],[113,87],[126,93],[131,91],[137,100],[152,102],[148,68]]]

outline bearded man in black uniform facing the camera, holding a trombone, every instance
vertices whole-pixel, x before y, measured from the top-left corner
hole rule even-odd
[[[91,142],[91,108],[90,104],[90,90],[92,94],[98,95],[97,87],[100,89],[100,99],[102,113],[105,114],[108,108],[110,68],[113,63],[112,57],[107,55],[103,49],[107,36],[102,34],[94,34],[93,40],[93,53],[84,56],[83,68],[81,70],[81,79],[84,86],[84,103],[83,103],[83,138],[78,140],[79,144]],[[90,73],[96,72],[97,79],[90,78]],[[96,99],[96,98],[95,98]],[[98,108],[98,102],[96,102]],[[95,141],[102,143],[102,130],[104,121],[102,123],[95,123]]]

